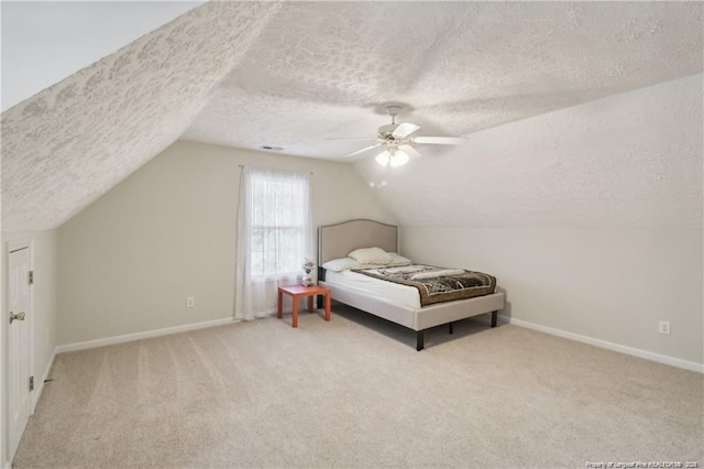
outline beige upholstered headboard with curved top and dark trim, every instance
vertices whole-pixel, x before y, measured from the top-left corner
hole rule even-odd
[[[398,252],[398,227],[374,220],[349,220],[318,228],[318,265],[346,258],[359,248],[382,248]]]

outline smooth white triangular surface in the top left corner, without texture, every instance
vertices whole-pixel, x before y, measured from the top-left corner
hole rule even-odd
[[[2,110],[10,109],[202,3],[0,2]]]

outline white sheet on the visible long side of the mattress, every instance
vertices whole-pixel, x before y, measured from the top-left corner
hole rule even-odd
[[[418,288],[386,282],[352,271],[326,271],[326,283],[337,284],[367,295],[378,296],[389,302],[399,303],[411,308],[420,307]]]

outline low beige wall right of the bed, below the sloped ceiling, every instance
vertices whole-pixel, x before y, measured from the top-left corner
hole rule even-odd
[[[400,246],[496,275],[512,318],[703,362],[702,230],[403,227]]]

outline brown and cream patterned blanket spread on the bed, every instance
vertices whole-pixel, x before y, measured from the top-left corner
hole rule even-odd
[[[496,288],[496,277],[492,275],[432,265],[380,266],[353,272],[418,288],[420,306],[490,295]]]

